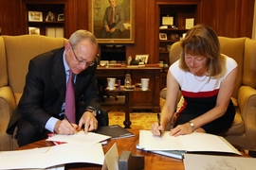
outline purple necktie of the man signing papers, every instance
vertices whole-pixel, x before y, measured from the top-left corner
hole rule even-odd
[[[71,70],[69,70],[69,77],[66,84],[64,113],[71,123],[76,123],[75,91]]]

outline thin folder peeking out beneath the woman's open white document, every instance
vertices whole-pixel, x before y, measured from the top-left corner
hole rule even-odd
[[[136,145],[136,148],[139,150],[152,152],[152,153],[155,153],[158,155],[163,155],[166,157],[172,157],[172,158],[179,159],[179,160],[182,160],[184,154],[186,153],[186,151],[184,151],[184,150],[145,150],[145,149],[141,148],[138,144]]]

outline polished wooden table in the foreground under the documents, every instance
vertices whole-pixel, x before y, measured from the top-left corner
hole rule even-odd
[[[113,144],[117,144],[119,149],[119,156],[125,150],[131,151],[133,155],[143,155],[145,157],[145,170],[166,170],[166,169],[175,169],[175,170],[184,170],[184,165],[182,160],[177,160],[165,156],[160,156],[154,153],[145,152],[137,150],[136,144],[138,144],[138,129],[128,129],[135,134],[135,137],[130,138],[121,138],[116,140],[110,140],[108,144],[103,145],[104,153],[106,153],[109,148]],[[47,142],[46,140],[41,140],[32,144],[27,144],[25,146],[19,147],[19,150],[29,149],[35,147],[44,147],[54,145],[51,142]],[[93,153],[85,153],[85,154],[93,154]],[[84,170],[101,170],[100,165],[96,164],[88,164],[88,163],[70,163],[65,165],[66,169],[84,169]]]

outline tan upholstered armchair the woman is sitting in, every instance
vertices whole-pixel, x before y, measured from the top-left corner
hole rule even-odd
[[[236,115],[232,126],[224,131],[230,144],[240,149],[249,150],[255,156],[256,151],[256,41],[248,38],[219,37],[221,53],[233,58],[238,63],[238,75],[232,93]],[[170,50],[171,64],[179,58],[180,42],[175,42]],[[166,88],[160,96],[166,98]],[[182,98],[181,98],[182,99]]]

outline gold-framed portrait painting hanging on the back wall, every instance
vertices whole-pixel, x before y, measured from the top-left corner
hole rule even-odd
[[[88,30],[99,43],[135,43],[135,0],[91,0],[88,12]]]

